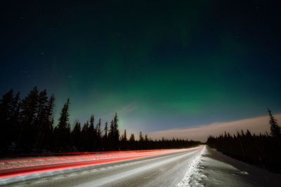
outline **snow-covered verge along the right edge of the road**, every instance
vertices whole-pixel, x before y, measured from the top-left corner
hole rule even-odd
[[[248,165],[205,147],[178,186],[281,186],[281,174]]]

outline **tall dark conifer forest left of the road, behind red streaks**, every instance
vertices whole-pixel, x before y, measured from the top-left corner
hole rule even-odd
[[[142,132],[138,141],[134,134],[120,134],[118,116],[101,124],[92,115],[83,125],[77,120],[71,128],[70,99],[60,112],[58,125],[54,123],[55,97],[46,90],[32,88],[20,99],[13,89],[0,100],[0,155],[13,153],[50,153],[79,151],[123,151],[154,148],[184,148],[197,146],[199,141],[188,139],[152,140]]]

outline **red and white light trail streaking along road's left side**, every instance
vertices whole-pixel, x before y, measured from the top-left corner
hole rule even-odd
[[[102,165],[124,160],[146,158],[156,155],[164,155],[188,149],[166,149],[166,150],[143,150],[143,151],[111,151],[91,153],[51,153],[44,157],[18,158],[0,160],[0,179],[41,172],[51,172],[60,169],[71,169],[75,167],[86,167],[91,165]],[[40,154],[43,155],[43,154]],[[67,155],[67,156],[65,156]]]

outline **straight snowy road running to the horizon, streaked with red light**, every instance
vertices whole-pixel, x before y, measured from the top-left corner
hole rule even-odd
[[[197,148],[176,149],[166,151],[122,152],[111,153],[109,159],[91,161],[88,158],[76,158],[80,165],[73,167],[73,160],[65,168],[46,169],[46,171],[28,172],[25,175],[16,174],[0,178],[0,185],[7,186],[177,186],[185,176],[188,166],[200,154],[204,146]],[[128,155],[130,154],[130,155]],[[95,155],[101,157],[99,154]],[[108,156],[108,154],[107,154]],[[67,158],[70,159],[70,158]],[[73,157],[72,157],[73,159]],[[88,160],[87,160],[88,159]],[[44,159],[43,159],[44,160]],[[57,160],[57,159],[56,159]],[[113,161],[112,161],[113,160]],[[58,161],[58,160],[57,160]],[[61,160],[60,160],[61,161]],[[65,160],[63,160],[65,162]],[[94,164],[96,162],[96,164]],[[6,162],[7,163],[7,162]],[[18,171],[15,164],[4,171]],[[31,162],[29,162],[31,163]],[[46,167],[37,160],[31,168]],[[39,163],[39,164],[38,164]],[[53,161],[52,161],[53,163]],[[81,165],[81,163],[88,163]],[[1,162],[0,162],[1,164]],[[47,163],[48,164],[48,163]],[[26,165],[26,163],[25,163]],[[37,165],[37,167],[36,167]],[[54,164],[60,166],[62,164]],[[65,165],[65,164],[64,164]],[[26,165],[30,168],[30,165]],[[1,170],[0,170],[1,171]],[[21,171],[21,170],[20,170]],[[25,170],[24,170],[25,171]],[[25,171],[26,172],[26,171]],[[11,173],[10,173],[11,174]]]

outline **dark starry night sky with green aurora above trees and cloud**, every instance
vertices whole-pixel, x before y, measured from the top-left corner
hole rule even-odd
[[[37,85],[55,119],[70,97],[72,125],[117,112],[129,132],[280,113],[280,6],[233,3],[2,3],[0,94]]]

